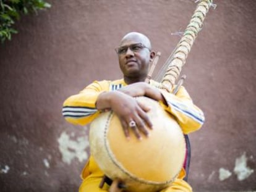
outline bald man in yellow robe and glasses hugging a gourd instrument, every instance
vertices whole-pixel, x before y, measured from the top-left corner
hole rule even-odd
[[[116,48],[116,53],[123,78],[114,81],[94,81],[79,94],[67,98],[62,114],[68,122],[85,125],[92,122],[100,114],[100,111],[111,109],[119,117],[124,135],[129,138],[129,130],[131,130],[131,134],[135,134],[138,140],[141,140],[142,135],[148,136],[148,129],[152,128],[152,123],[147,115],[147,111],[150,109],[140,104],[134,97],[147,96],[159,101],[166,111],[173,114],[185,134],[198,130],[202,126],[203,112],[193,104],[184,87],[181,87],[177,94],[173,95],[156,88],[155,85],[159,84],[156,81],[150,80],[149,84],[144,82],[150,62],[155,56],[155,51],[151,50],[151,43],[147,36],[137,32],[128,33]],[[174,102],[182,102],[186,111],[173,107],[171,103]],[[196,118],[187,115],[187,111]],[[131,121],[135,126],[129,127]],[[116,181],[110,188],[106,183],[103,188],[99,188],[103,175],[104,173],[94,158],[90,156],[82,171],[83,181],[79,191],[122,191],[117,187],[118,182]],[[186,172],[182,169],[172,185],[161,192],[192,191],[190,185],[182,180],[185,175]]]

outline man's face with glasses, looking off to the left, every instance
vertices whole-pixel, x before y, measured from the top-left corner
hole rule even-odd
[[[148,42],[140,36],[130,36],[122,40],[117,48],[119,66],[124,77],[146,77],[151,59]]]

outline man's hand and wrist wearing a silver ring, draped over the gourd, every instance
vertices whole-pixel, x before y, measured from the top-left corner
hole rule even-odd
[[[142,138],[141,133],[148,136],[148,128],[152,128],[152,123],[147,115],[150,108],[121,91],[101,93],[98,96],[96,107],[97,109],[112,109],[119,117],[127,138],[129,138],[129,128],[139,139]],[[132,121],[135,122],[135,126],[129,126]]]

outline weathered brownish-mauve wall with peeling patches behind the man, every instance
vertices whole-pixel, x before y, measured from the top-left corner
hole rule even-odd
[[[88,130],[65,122],[64,99],[93,80],[120,78],[114,48],[129,31],[148,35],[166,61],[194,1],[49,1],[17,23],[0,48],[1,191],[77,191]],[[187,59],[185,86],[203,109],[190,135],[194,191],[256,190],[256,2],[215,0]],[[67,146],[65,146],[67,144]],[[69,148],[68,148],[69,147]],[[236,159],[247,157],[239,181]],[[80,159],[79,159],[80,158]],[[232,175],[221,181],[220,168]]]

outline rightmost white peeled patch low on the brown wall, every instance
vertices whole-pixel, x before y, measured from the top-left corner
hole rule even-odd
[[[254,172],[253,169],[247,167],[247,157],[242,154],[241,157],[236,158],[236,165],[234,167],[234,173],[237,175],[237,180],[242,181],[248,178]]]

